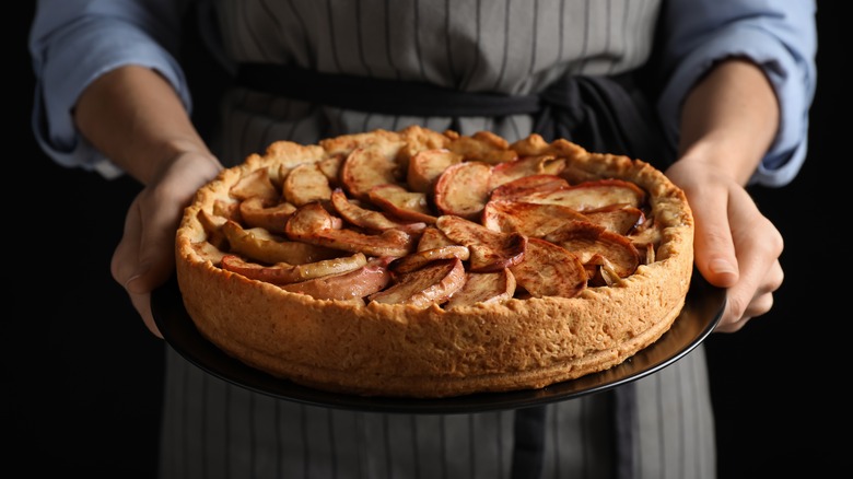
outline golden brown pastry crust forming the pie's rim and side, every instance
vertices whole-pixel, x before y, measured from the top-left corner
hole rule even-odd
[[[319,161],[364,142],[401,138],[417,138],[423,144],[418,148],[426,149],[449,144],[458,135],[412,128],[361,133],[320,142],[326,154],[315,147],[273,144],[267,155],[253,155],[199,189],[177,231],[176,254],[184,303],[201,335],[246,364],[299,384],[437,398],[577,378],[623,362],[669,329],[692,273],[693,223],[683,194],[644,162],[588,153],[564,140],[549,144],[535,136],[511,148],[519,155],[565,157],[574,175],[628,179],[648,194],[661,234],[653,262],[575,297],[515,297],[448,309],[316,300],[218,266],[224,252],[208,243],[198,213],[233,202],[227,191],[245,174],[262,167],[279,172],[282,162],[295,166],[295,154]],[[494,139],[488,138],[492,149]],[[411,154],[402,149],[401,156]]]

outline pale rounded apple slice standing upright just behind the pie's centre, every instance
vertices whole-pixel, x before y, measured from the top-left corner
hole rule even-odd
[[[477,161],[447,167],[435,182],[433,199],[439,212],[478,221],[489,200],[491,172],[491,166]]]

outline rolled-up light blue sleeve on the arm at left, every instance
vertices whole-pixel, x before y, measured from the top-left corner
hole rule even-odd
[[[100,75],[127,65],[160,72],[189,110],[190,95],[175,52],[183,2],[174,0],[39,1],[30,34],[36,78],[32,127],[57,163],[115,177],[121,171],[82,138],[73,108]]]

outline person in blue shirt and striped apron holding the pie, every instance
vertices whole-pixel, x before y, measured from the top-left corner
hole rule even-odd
[[[783,240],[744,187],[784,186],[805,159],[814,1],[197,1],[208,45],[235,73],[203,139],[178,55],[185,3],[39,1],[31,37],[45,151],[145,185],[112,269],[153,334],[150,292],[174,268],[182,207],[222,165],[274,140],[409,124],[510,141],[538,131],[665,168],[693,208],[697,270],[727,289],[717,330],[772,307]],[[350,77],[397,86],[376,95]],[[431,93],[407,102],[412,83]],[[542,106],[459,109],[442,102],[448,91]],[[370,92],[372,106],[353,102]],[[304,406],[223,383],[172,350],[165,381],[164,478],[715,476],[701,347],[611,393],[530,411]]]

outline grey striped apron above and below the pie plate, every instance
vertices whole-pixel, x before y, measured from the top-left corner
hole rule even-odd
[[[411,124],[463,135],[491,130],[509,141],[537,131],[658,166],[671,154],[650,141],[659,138],[650,127],[654,115],[630,82],[648,57],[658,1],[202,7],[210,8],[200,13],[215,27],[217,48],[241,66],[210,139],[226,165],[276,140],[316,143]],[[293,68],[270,67],[282,65]],[[373,80],[344,82],[340,100],[323,95],[349,77]],[[397,87],[376,86],[384,81]],[[421,92],[407,89],[421,87],[425,101],[406,101],[416,96],[407,92]],[[383,98],[389,91],[398,93]],[[442,96],[459,92],[468,100]],[[367,106],[352,103],[365,97]],[[701,347],[611,392],[470,414],[360,412],[276,399],[210,376],[172,350],[165,381],[164,479],[715,477]]]

